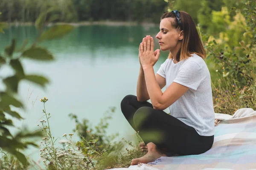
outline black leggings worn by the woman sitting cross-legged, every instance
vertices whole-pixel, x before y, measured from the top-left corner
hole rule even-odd
[[[214,136],[200,136],[193,127],[154,109],[151,103],[139,102],[137,96],[125,96],[121,110],[145,144],[153,142],[160,150],[178,155],[197,155],[212,147]]]

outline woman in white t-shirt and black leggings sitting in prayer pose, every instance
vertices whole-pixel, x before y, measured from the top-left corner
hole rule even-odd
[[[168,59],[154,75],[160,50],[154,51],[152,37],[143,38],[137,96],[125,96],[121,102],[122,113],[145,143],[141,149],[148,151],[131,165],[168,153],[201,154],[212,147],[214,139],[211,79],[192,17],[177,10],[163,14],[156,38],[161,51],[170,51]],[[168,107],[170,115],[163,111]]]

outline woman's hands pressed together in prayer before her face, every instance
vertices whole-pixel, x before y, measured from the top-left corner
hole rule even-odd
[[[143,38],[140,43],[139,59],[140,64],[144,68],[153,67],[160,56],[160,49],[154,51],[154,40],[151,36]]]

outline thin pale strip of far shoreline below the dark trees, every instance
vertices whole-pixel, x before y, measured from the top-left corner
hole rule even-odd
[[[12,23],[6,23],[9,26],[35,26],[35,23],[32,22],[12,22]],[[54,26],[54,25],[61,25],[61,24],[68,24],[71,26],[92,26],[92,25],[102,25],[102,26],[148,26],[148,27],[154,27],[158,26],[159,24],[156,23],[149,23],[149,22],[142,22],[137,23],[134,21],[82,21],[78,23],[64,23],[64,22],[58,22],[58,23],[47,23],[47,26]]]

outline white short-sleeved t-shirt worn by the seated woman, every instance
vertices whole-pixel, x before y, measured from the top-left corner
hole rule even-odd
[[[157,74],[166,79],[166,88],[172,82],[189,88],[169,106],[170,114],[189,125],[201,136],[214,135],[215,113],[212,102],[211,77],[204,59],[192,54],[186,60],[166,59]]]

